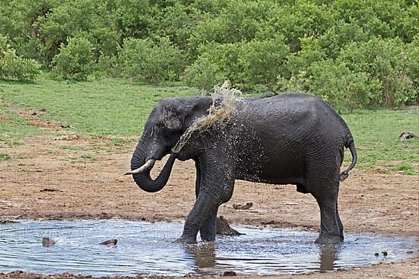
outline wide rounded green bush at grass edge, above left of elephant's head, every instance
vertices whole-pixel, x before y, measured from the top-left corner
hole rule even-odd
[[[157,43],[134,38],[124,40],[119,55],[125,77],[151,84],[178,80],[186,67],[182,50],[168,38],[158,38]]]

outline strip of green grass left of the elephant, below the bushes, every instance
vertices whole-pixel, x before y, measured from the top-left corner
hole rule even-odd
[[[161,98],[197,94],[186,86],[149,86],[122,79],[67,84],[45,75],[33,84],[0,80],[0,99],[23,109],[47,110],[40,116],[99,135],[140,135]]]

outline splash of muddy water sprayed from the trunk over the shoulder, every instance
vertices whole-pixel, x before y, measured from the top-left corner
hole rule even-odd
[[[182,150],[182,147],[191,138],[193,132],[206,130],[214,123],[227,123],[230,120],[230,116],[237,111],[237,103],[243,100],[242,91],[234,88],[230,89],[228,80],[221,86],[214,86],[211,96],[212,105],[207,110],[208,114],[193,121],[192,125],[189,126],[172,149],[173,153],[179,153]]]

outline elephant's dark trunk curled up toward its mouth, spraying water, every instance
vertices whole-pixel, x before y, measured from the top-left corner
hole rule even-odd
[[[131,158],[131,172],[135,170],[142,169],[142,172],[133,173],[133,179],[135,183],[146,192],[154,193],[158,192],[159,190],[163,189],[168,182],[170,172],[172,171],[173,163],[175,163],[175,159],[177,154],[171,153],[166,165],[164,165],[163,169],[161,170],[159,176],[156,179],[152,179],[150,176],[150,171],[152,170],[152,166],[147,166],[146,164],[146,144],[143,143],[142,140],[138,142],[137,147],[133,153],[133,157]],[[144,168],[143,168],[144,167]]]

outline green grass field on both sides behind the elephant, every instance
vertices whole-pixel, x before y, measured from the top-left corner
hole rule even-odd
[[[149,86],[119,79],[76,84],[56,82],[45,76],[34,84],[0,81],[3,101],[0,142],[9,146],[20,144],[24,137],[41,133],[16,114],[16,110],[45,110],[38,117],[60,121],[71,126],[75,133],[114,135],[115,144],[125,144],[124,137],[140,135],[158,100],[198,93],[197,89],[186,86]],[[358,167],[417,174],[419,142],[406,140],[400,144],[398,137],[405,131],[419,134],[418,112],[418,109],[356,110],[344,114],[358,148]],[[7,158],[7,154],[3,157]],[[6,160],[1,158],[0,154],[0,160]],[[348,160],[350,156],[346,156],[346,163]]]

